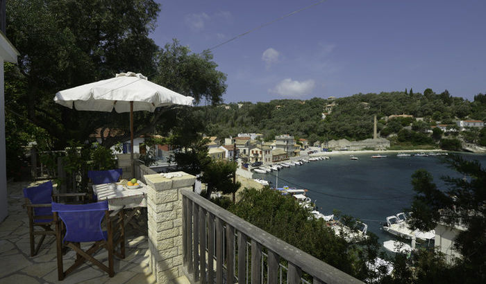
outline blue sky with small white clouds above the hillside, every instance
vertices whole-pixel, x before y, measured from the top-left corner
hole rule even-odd
[[[199,53],[317,0],[158,0],[151,37]],[[212,50],[226,103],[486,92],[486,1],[328,0]]]

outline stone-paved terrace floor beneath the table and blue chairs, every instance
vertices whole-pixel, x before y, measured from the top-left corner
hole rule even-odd
[[[28,218],[22,188],[42,181],[9,182],[8,217],[0,223],[0,284],[1,283],[156,283],[149,269],[148,236],[146,230],[126,228],[126,258],[115,257],[115,276],[110,278],[96,265],[85,263],[64,281],[58,281],[56,242],[47,236],[37,256],[30,256]],[[144,225],[146,226],[146,224]],[[36,237],[36,239],[39,236]],[[94,256],[108,263],[106,250]],[[74,263],[76,254],[69,250],[64,256],[65,269]],[[188,283],[178,278],[175,283]]]

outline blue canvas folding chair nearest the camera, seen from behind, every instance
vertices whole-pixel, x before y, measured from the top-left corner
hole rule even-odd
[[[107,272],[110,277],[113,277],[115,275],[113,270],[113,232],[110,214],[108,213],[108,201],[81,205],[52,202],[52,212],[56,223],[58,279],[60,281],[63,280],[67,274],[73,272],[76,267],[79,267],[86,260],[97,265]],[[106,221],[107,231],[101,229],[103,217]],[[62,234],[64,228],[65,235]],[[86,251],[83,251],[80,245],[81,242],[94,242],[94,244]],[[69,247],[76,251],[76,260],[66,271],[64,271],[62,265],[63,247]],[[108,250],[108,266],[93,257],[101,248]]]

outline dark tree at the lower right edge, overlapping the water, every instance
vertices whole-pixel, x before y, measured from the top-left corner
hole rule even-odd
[[[428,231],[437,223],[466,228],[459,231],[454,240],[455,249],[462,258],[455,261],[452,269],[455,279],[462,283],[486,281],[486,170],[478,161],[452,155],[444,160],[460,177],[442,177],[447,189],[438,188],[426,170],[412,175],[412,185],[417,193],[412,202],[413,228]],[[437,267],[435,267],[437,268]],[[446,272],[441,269],[440,272]],[[446,274],[447,275],[447,274]]]

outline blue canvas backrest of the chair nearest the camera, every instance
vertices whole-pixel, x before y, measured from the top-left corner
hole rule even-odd
[[[71,205],[52,202],[52,211],[57,212],[66,225],[63,242],[94,242],[107,240],[106,231],[101,230],[101,220],[108,210],[108,201]]]

